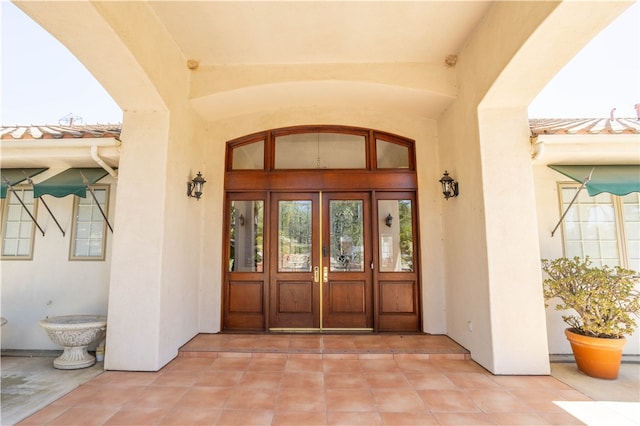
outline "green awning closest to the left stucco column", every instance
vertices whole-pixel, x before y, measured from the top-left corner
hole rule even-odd
[[[85,198],[87,186],[93,185],[107,174],[106,170],[100,168],[67,169],[44,182],[34,184],[33,196],[37,198],[48,194],[61,198],[67,195],[77,195]]]

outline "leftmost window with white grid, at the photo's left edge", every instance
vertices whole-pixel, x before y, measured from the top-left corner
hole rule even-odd
[[[33,240],[36,226],[20,200],[29,212],[37,217],[38,203],[33,198],[32,189],[14,187],[7,191],[7,198],[2,202],[3,259],[33,259]]]

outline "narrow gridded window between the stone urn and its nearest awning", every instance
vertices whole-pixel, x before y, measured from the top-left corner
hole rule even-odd
[[[73,197],[71,260],[104,260],[107,222],[102,212],[107,214],[109,191],[104,186],[92,187],[92,190],[95,200],[89,191],[85,198]]]

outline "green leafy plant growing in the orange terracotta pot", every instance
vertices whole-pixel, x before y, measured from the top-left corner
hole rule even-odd
[[[562,319],[577,333],[592,337],[621,338],[633,333],[640,313],[638,273],[616,267],[591,266],[588,257],[542,260],[548,278],[545,300],[559,298],[556,310],[573,309],[577,315]]]

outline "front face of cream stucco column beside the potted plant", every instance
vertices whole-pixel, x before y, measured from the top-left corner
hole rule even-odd
[[[549,374],[526,109],[479,111],[495,374]]]

